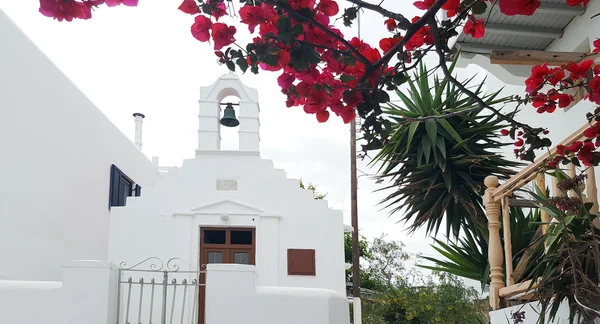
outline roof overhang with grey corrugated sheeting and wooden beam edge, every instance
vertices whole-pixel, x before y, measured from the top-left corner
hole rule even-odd
[[[585,14],[582,6],[567,6],[564,0],[541,0],[533,16],[506,16],[498,2],[478,15],[486,24],[485,36],[472,38],[461,34],[454,47],[460,49],[458,66],[478,65],[506,84],[523,85],[531,67],[543,62],[560,65],[584,53],[548,52],[555,40],[562,38],[574,18]]]

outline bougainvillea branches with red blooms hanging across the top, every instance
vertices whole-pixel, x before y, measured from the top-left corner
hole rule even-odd
[[[350,6],[340,10],[342,1]],[[588,1],[565,2],[569,6],[581,6]],[[190,21],[192,36],[210,43],[218,61],[230,70],[281,73],[277,82],[288,107],[302,107],[319,122],[327,121],[330,113],[346,123],[360,116],[363,139],[368,142],[366,149],[380,148],[389,137],[391,124],[381,116],[381,105],[390,100],[387,91],[402,86],[409,78],[407,72],[428,53],[439,57],[440,67],[449,82],[481,106],[482,99],[461,88],[448,73],[446,61],[452,54],[449,40],[458,35],[459,28],[471,37],[483,37],[485,19],[476,15],[486,12],[488,4],[498,5],[500,12],[508,16],[533,15],[540,7],[539,0],[417,0],[413,5],[423,10],[423,14],[408,19],[401,12],[386,9],[383,1],[242,0],[240,3],[234,6],[232,0],[183,0],[179,10],[193,17]],[[90,19],[92,9],[101,5],[121,4],[136,6],[138,0],[40,0],[40,12],[59,21],[71,21]],[[335,21],[342,19],[344,25],[351,26],[360,10],[380,14],[381,28],[390,33],[389,37],[382,38],[378,44],[345,37]],[[442,21],[436,20],[440,11],[446,17]],[[246,25],[252,41],[240,44],[236,39],[236,26],[220,20],[223,16],[229,16],[230,20],[237,18],[239,25]],[[595,50],[600,50],[600,40],[595,45]],[[557,107],[572,104],[574,96],[567,92],[573,90],[585,91],[586,100],[600,105],[600,70],[590,62],[534,67],[525,84],[527,94],[523,99],[515,96],[515,101],[518,106],[531,104],[539,113],[551,113]],[[542,89],[545,90],[542,92]],[[515,140],[515,154],[522,159],[533,160],[535,150],[551,144],[544,138],[548,130],[521,123],[512,113],[481,107],[510,122],[511,129],[506,130],[506,135]],[[595,115],[588,119],[598,118]]]

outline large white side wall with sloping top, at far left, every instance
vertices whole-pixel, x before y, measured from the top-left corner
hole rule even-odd
[[[156,174],[1,10],[0,143],[0,279],[59,280],[65,260],[106,260],[111,164],[142,192]]]

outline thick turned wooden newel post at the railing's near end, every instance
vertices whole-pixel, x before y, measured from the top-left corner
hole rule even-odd
[[[500,308],[500,288],[504,287],[504,274],[502,273],[502,242],[500,241],[500,202],[494,201],[492,193],[498,187],[498,177],[488,176],[484,180],[485,194],[483,203],[488,218],[488,231],[490,234],[488,245],[488,258],[490,262],[490,306],[493,310]]]

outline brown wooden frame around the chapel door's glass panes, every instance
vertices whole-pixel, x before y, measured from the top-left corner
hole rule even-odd
[[[224,230],[225,244],[206,244],[204,243],[204,232],[207,230]],[[252,244],[231,244],[231,231],[252,232]],[[248,264],[256,265],[256,228],[255,227],[219,227],[219,226],[200,226],[198,264],[200,269],[198,287],[198,323],[204,324],[206,314],[206,264],[208,264],[208,252],[223,252],[222,262],[224,264],[233,263],[233,253],[248,252]]]

